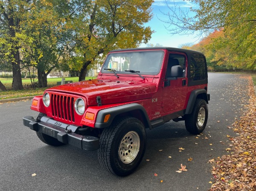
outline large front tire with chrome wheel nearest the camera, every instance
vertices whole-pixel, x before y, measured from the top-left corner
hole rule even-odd
[[[131,174],[140,164],[146,148],[143,123],[135,117],[115,120],[99,140],[99,163],[117,176]]]

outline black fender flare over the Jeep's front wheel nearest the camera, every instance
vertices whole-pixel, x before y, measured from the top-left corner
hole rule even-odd
[[[117,115],[129,112],[129,111],[134,111],[134,110],[140,110],[142,112],[143,117],[144,117],[143,122],[144,122],[145,128],[147,128],[147,127],[151,128],[151,123],[149,121],[148,114],[147,114],[145,108],[138,103],[129,103],[129,104],[125,104],[125,105],[119,105],[119,106],[116,106],[113,108],[107,108],[107,109],[100,110],[97,114],[95,128],[106,128],[112,124],[114,118]],[[107,115],[107,114],[110,114],[110,118],[109,118],[108,122],[104,123],[104,118],[105,118],[105,115]]]

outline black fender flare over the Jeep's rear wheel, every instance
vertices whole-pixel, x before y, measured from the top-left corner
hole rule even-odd
[[[194,104],[195,104],[195,100],[196,100],[196,97],[199,95],[199,94],[203,94],[203,99],[206,101],[206,103],[208,104],[208,100],[209,100],[209,96],[207,95],[207,91],[205,89],[196,89],[196,90],[193,90],[189,96],[189,101],[188,101],[188,104],[187,104],[187,107],[186,107],[186,111],[185,111],[185,114],[191,114],[192,113],[192,110],[194,108]]]

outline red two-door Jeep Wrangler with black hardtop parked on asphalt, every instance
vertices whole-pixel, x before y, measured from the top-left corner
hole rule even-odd
[[[47,89],[32,100],[40,112],[23,124],[48,145],[98,149],[99,163],[131,174],[146,148],[145,128],[185,120],[204,131],[208,118],[207,64],[202,53],[179,48],[110,51],[98,78]]]

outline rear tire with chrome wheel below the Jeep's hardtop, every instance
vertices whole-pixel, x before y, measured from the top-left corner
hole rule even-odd
[[[204,131],[208,119],[208,107],[205,100],[196,99],[191,114],[185,116],[186,130],[192,134]]]

